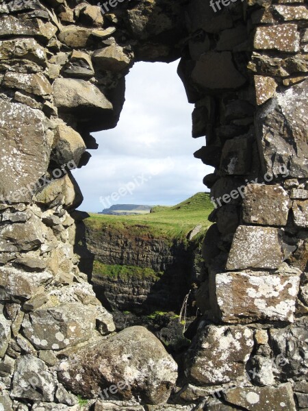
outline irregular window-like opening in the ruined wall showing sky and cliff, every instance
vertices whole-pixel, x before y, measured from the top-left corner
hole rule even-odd
[[[185,327],[183,303],[186,326],[197,314],[192,301],[212,210],[202,183],[211,167],[193,156],[203,142],[191,137],[193,105],[177,64],[133,66],[117,127],[93,134],[99,149],[75,171],[80,208],[90,212],[82,241],[94,259],[97,297],[118,329],[146,325],[171,347]]]

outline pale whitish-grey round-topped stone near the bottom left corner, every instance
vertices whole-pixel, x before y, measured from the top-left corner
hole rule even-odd
[[[16,360],[11,397],[53,401],[54,393],[53,375],[44,362],[29,354]]]

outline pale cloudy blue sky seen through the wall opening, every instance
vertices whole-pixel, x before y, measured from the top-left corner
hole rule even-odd
[[[79,210],[113,204],[171,206],[198,191],[212,172],[194,158],[205,138],[192,138],[192,110],[179,62],[138,62],[126,77],[125,104],[116,128],[92,134],[99,149],[73,171],[84,195]]]

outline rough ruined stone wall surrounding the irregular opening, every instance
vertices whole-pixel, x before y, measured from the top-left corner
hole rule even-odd
[[[0,2],[1,409],[307,409],[307,5],[116,3]],[[179,57],[218,208],[178,373],[142,327],[108,336],[70,169],[116,126],[133,63]]]

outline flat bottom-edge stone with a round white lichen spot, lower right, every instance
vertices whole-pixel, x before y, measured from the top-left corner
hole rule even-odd
[[[229,403],[249,411],[296,411],[292,385],[287,382],[277,387],[239,387],[223,393]]]

